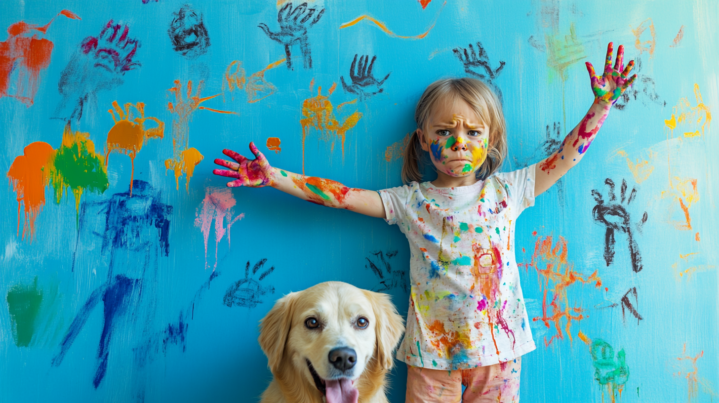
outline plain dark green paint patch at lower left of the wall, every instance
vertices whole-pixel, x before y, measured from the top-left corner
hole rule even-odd
[[[35,334],[35,319],[42,304],[42,289],[37,289],[37,277],[32,285],[17,284],[10,287],[5,299],[15,345],[27,347]]]

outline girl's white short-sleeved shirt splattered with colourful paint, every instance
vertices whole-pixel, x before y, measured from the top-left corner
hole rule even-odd
[[[388,224],[400,227],[411,250],[398,360],[454,370],[534,350],[514,255],[516,219],[534,204],[534,168],[471,186],[412,182],[380,191]]]

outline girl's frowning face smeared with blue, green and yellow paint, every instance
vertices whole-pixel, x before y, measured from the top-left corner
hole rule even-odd
[[[427,131],[417,130],[422,150],[429,152],[440,173],[454,177],[474,175],[487,159],[489,125],[464,99],[440,104],[429,117]]]

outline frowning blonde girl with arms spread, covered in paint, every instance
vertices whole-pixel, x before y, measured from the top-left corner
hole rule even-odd
[[[521,356],[535,348],[514,255],[514,224],[535,196],[577,165],[631,86],[633,60],[620,46],[604,73],[587,63],[595,101],[559,150],[527,168],[497,173],[507,153],[497,96],[481,81],[432,83],[417,104],[402,168],[408,185],[369,191],[273,168],[250,142],[255,160],[224,150],[237,163],[214,170],[227,186],[273,186],[327,207],[381,217],[410,243],[411,299],[397,358],[408,365],[407,402],[518,402]],[[421,153],[437,173],[423,182]],[[466,386],[462,394],[462,385]]]

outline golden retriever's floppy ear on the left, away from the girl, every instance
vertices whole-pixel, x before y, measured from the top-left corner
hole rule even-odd
[[[298,294],[299,292],[290,292],[278,299],[270,312],[260,320],[260,338],[257,340],[262,352],[267,356],[267,366],[273,373],[282,362]]]

